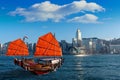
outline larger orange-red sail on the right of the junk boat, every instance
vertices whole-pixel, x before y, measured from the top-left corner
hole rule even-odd
[[[61,47],[51,32],[39,37],[34,56],[62,56]]]

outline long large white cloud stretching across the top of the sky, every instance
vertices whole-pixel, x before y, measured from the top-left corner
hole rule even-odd
[[[48,20],[59,22],[71,14],[76,14],[83,11],[94,13],[104,10],[105,9],[102,6],[94,2],[87,3],[85,0],[73,1],[70,4],[65,5],[57,5],[52,4],[50,1],[45,1],[42,3],[36,3],[29,8],[17,8],[15,11],[11,11],[9,14],[13,16],[23,16],[27,22]]]

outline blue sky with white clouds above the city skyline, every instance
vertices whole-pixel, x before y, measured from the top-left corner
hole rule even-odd
[[[28,42],[52,32],[58,41],[120,38],[120,0],[0,0],[0,43],[27,36]]]

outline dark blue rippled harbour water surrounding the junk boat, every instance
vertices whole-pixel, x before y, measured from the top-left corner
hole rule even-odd
[[[34,75],[0,56],[0,80],[120,80],[120,55],[64,56],[64,64],[46,75]]]

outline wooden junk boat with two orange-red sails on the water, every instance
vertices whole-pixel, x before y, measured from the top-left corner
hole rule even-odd
[[[63,63],[61,47],[51,32],[39,37],[33,58],[24,58],[29,55],[29,51],[21,39],[10,42],[6,55],[21,56],[20,59],[14,59],[15,65],[35,74],[56,71]]]

